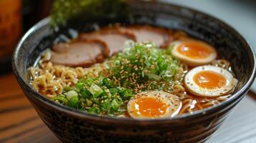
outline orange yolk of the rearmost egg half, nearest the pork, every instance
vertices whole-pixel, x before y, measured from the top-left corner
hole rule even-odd
[[[184,42],[178,47],[177,51],[192,59],[205,59],[212,54],[212,50],[207,48],[206,44],[199,41]]]

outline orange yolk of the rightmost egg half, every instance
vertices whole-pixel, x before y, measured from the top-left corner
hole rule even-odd
[[[194,82],[204,89],[219,89],[227,83],[222,74],[214,71],[199,71],[193,77]]]

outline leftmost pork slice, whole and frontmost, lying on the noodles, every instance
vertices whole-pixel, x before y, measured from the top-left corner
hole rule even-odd
[[[65,66],[91,66],[108,56],[108,47],[102,41],[75,41],[52,47],[50,61]]]

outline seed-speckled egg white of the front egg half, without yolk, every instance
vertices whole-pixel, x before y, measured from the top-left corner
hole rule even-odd
[[[161,117],[174,117],[176,114],[179,113],[179,110],[181,109],[181,100],[178,97],[174,96],[173,94],[169,94],[167,92],[162,92],[162,91],[147,91],[147,92],[141,92],[136,94],[136,96],[128,102],[127,111],[131,117],[136,119],[161,118],[161,117],[144,117],[141,114],[134,114],[136,111],[133,110],[133,104],[135,104],[136,99],[143,98],[143,97],[152,97],[155,99],[160,99],[161,102],[169,105],[169,107],[167,107],[166,109],[166,113],[161,115]]]

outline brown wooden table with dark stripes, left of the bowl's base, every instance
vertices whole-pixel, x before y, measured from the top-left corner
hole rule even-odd
[[[60,142],[24,96],[13,74],[0,77],[0,142]]]

